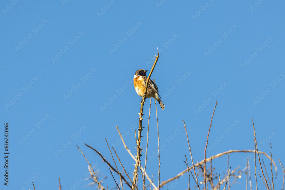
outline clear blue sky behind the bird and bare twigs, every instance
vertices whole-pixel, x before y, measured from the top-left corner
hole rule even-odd
[[[36,189],[57,189],[58,177],[62,189],[86,189],[90,181],[80,180],[88,177],[88,164],[76,145],[101,178],[107,176],[105,187],[115,187],[107,165],[84,145],[113,163],[105,138],[131,174],[135,162],[119,142],[115,126],[135,154],[141,97],[133,76],[138,69],[149,73],[157,48],[160,57],[152,77],[165,104],[164,110],[158,107],[160,144],[165,144],[160,181],[186,169],[184,154],[190,162],[183,119],[194,162],[203,160],[215,101],[207,157],[254,150],[253,118],[260,151],[270,154],[272,144],[282,175],[278,159],[285,164],[284,1],[5,0],[0,7],[1,139],[2,153],[10,153],[9,186],[1,180],[0,189],[32,189],[29,181]],[[9,123],[8,151],[4,123]],[[157,185],[154,101],[149,133],[148,155],[154,157],[148,157],[146,171],[154,174]],[[142,145],[145,149],[146,137]],[[247,157],[231,154],[229,165],[243,169]],[[269,169],[270,161],[260,157]],[[212,164],[223,175],[227,156]],[[252,158],[250,164],[254,179]],[[245,174],[237,182],[231,189],[244,189]],[[281,188],[282,179],[274,185]],[[260,179],[258,187],[265,189]],[[186,177],[173,189],[187,188]]]

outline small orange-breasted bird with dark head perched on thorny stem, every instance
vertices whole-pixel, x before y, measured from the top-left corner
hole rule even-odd
[[[146,71],[147,70],[139,69],[136,71],[135,76],[134,76],[135,90],[140,97],[143,97],[143,93],[145,90],[146,79],[147,79]],[[161,109],[164,110],[164,104],[160,100],[160,95],[158,94],[158,87],[152,80],[149,80],[148,86],[147,86],[146,98],[151,98],[151,97],[156,99]]]

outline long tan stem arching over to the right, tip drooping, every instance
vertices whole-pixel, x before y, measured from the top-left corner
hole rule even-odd
[[[254,153],[255,151],[254,151],[254,150],[228,150],[228,151],[226,151],[226,152],[222,152],[222,153],[219,153],[219,154],[213,156],[213,159],[219,158],[219,157],[224,156],[224,155],[226,155],[226,154],[235,153],[235,152],[253,152],[253,153]],[[264,154],[268,159],[271,160],[271,158],[270,158],[265,152],[259,152],[259,153],[260,153],[260,154]],[[211,157],[210,157],[210,158],[207,158],[207,159],[206,159],[206,162],[209,162],[210,160],[211,160]],[[277,171],[277,166],[276,166],[276,164],[275,164],[275,162],[274,162],[273,160],[272,160],[272,163],[274,164],[275,170]],[[195,167],[198,167],[198,166],[201,166],[201,165],[203,165],[203,164],[204,164],[204,160],[202,160],[202,161],[196,163],[194,166],[195,166]],[[189,169],[192,169],[192,168],[193,168],[193,166],[190,166],[190,167],[189,167]],[[175,180],[175,179],[178,179],[181,175],[183,175],[183,174],[186,173],[187,171],[188,171],[188,169],[185,169],[184,171],[178,173],[176,176],[174,176],[174,177],[172,177],[172,178],[170,178],[170,179],[168,179],[168,180],[166,180],[166,181],[162,181],[162,182],[160,183],[160,187],[162,187],[163,185],[166,185],[166,184],[169,183],[170,181],[173,181],[173,180]]]

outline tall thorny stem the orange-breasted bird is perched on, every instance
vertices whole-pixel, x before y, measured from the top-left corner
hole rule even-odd
[[[141,138],[142,138],[142,130],[143,130],[143,127],[142,127],[142,121],[143,121],[143,106],[144,106],[144,103],[145,103],[145,99],[146,99],[146,92],[147,92],[147,86],[148,86],[148,82],[150,80],[150,76],[152,74],[152,71],[154,70],[154,67],[156,65],[156,62],[158,60],[158,57],[159,57],[159,52],[157,52],[157,56],[156,56],[156,59],[154,61],[154,64],[148,74],[148,77],[146,79],[146,84],[145,84],[145,89],[144,89],[144,93],[143,93],[143,97],[142,97],[142,101],[141,101],[141,110],[140,110],[140,118],[139,118],[139,129],[138,129],[138,138],[137,138],[137,160],[136,160],[136,164],[135,164],[135,169],[134,169],[134,178],[133,178],[133,184],[136,184],[136,181],[137,181],[137,176],[138,176],[138,168],[139,168],[139,162],[140,162],[140,159],[141,159]],[[132,190],[134,190],[135,187],[132,187]]]

